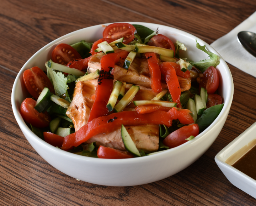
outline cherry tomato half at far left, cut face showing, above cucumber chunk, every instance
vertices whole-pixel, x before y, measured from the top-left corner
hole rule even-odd
[[[23,73],[23,81],[27,91],[35,98],[38,99],[44,87],[48,87],[50,92],[54,93],[52,82],[43,70],[39,67],[32,67]]]

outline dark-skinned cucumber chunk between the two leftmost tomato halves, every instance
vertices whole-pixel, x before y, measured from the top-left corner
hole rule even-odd
[[[51,95],[52,94],[50,93],[50,90],[47,87],[44,87],[43,91],[37,99],[36,106],[34,107],[39,113],[50,107],[49,103]]]

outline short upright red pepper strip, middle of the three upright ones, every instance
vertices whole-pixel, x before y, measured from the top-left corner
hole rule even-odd
[[[151,88],[154,92],[161,92],[161,71],[159,69],[158,59],[155,53],[145,53],[148,59],[149,75],[151,80]]]

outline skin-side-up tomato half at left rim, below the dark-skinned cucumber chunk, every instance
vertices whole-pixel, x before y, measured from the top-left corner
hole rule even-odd
[[[51,118],[47,111],[45,113],[39,113],[34,106],[36,101],[32,98],[26,98],[21,103],[21,116],[22,118],[34,127],[43,128],[48,127]]]

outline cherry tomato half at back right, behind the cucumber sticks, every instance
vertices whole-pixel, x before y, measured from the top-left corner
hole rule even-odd
[[[175,46],[172,43],[172,41],[165,35],[158,34],[158,35],[153,36],[149,40],[148,45],[171,49],[174,51],[174,55],[175,55]]]

